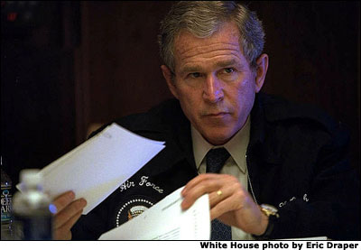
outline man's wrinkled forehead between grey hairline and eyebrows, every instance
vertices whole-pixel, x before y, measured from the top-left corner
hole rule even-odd
[[[199,38],[182,30],[174,41],[176,64],[199,59],[210,60],[222,56],[241,59],[243,51],[239,44],[239,37],[235,23],[224,23],[217,32],[207,38]]]

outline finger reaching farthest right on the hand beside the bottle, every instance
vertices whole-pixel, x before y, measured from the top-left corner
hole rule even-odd
[[[86,205],[87,200],[85,199],[77,199],[71,202],[54,217],[54,227],[59,228],[67,224],[69,219],[77,215]]]

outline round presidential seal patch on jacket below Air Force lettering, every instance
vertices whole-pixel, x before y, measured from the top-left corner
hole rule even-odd
[[[135,218],[148,208],[154,205],[153,199],[145,196],[133,196],[125,203],[122,203],[116,214],[116,227],[121,226],[126,221]]]

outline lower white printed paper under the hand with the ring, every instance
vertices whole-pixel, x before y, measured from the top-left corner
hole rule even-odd
[[[99,240],[208,240],[208,194],[197,199],[189,209],[182,211],[182,189],[175,190],[122,226],[106,232]]]

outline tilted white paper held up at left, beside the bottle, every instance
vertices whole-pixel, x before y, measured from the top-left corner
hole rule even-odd
[[[87,199],[83,214],[106,199],[165,147],[112,124],[42,169],[44,190],[52,198],[73,190]],[[21,185],[18,186],[21,190]]]

